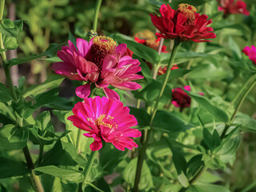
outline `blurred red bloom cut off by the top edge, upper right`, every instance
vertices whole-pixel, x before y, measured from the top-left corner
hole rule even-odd
[[[246,3],[242,1],[234,0],[218,0],[220,6],[218,6],[219,11],[223,11],[224,14],[245,14],[249,15],[249,11],[246,10]]]

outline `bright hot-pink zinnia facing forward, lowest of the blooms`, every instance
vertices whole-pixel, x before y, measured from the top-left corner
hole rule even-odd
[[[74,115],[67,118],[73,125],[88,133],[87,138],[94,138],[91,150],[100,150],[102,140],[111,142],[118,150],[132,150],[138,147],[132,138],[141,137],[139,130],[130,128],[138,124],[130,109],[122,102],[112,98],[85,98],[73,108]]]

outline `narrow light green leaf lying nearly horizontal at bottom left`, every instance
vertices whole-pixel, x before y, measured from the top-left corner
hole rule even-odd
[[[62,169],[58,166],[39,166],[34,169],[42,174],[50,174],[57,178],[62,178],[70,182],[82,182],[83,174],[75,170]]]

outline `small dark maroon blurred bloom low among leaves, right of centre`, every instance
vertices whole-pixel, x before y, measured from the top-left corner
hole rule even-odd
[[[184,90],[190,91],[190,86],[184,86]],[[172,103],[176,107],[190,107],[191,104],[191,98],[188,94],[185,93],[185,91],[182,90],[182,88],[177,87],[174,90],[172,90]]]

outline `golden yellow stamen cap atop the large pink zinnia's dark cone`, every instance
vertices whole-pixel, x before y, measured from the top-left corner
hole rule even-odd
[[[105,52],[112,52],[117,46],[113,38],[106,36],[97,36],[93,39],[93,42],[94,45],[97,45],[100,50],[104,50]]]

